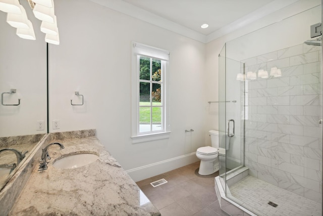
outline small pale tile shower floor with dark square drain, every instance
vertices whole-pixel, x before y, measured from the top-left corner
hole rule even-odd
[[[250,193],[252,191],[252,193]],[[230,187],[232,196],[243,200],[244,205],[252,210],[257,209],[259,215],[321,215],[321,203],[281,189],[257,178],[247,176]],[[273,207],[268,203],[278,204]]]

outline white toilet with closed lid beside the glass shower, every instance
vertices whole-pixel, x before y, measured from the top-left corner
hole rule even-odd
[[[196,157],[201,160],[198,174],[202,176],[211,175],[219,170],[219,140],[220,142],[226,142],[226,149],[229,149],[229,137],[225,139],[225,134],[219,135],[218,131],[211,130],[208,132],[211,137],[210,146],[200,147],[196,150]],[[220,139],[219,139],[220,138]],[[225,152],[225,149],[220,149],[221,152]]]

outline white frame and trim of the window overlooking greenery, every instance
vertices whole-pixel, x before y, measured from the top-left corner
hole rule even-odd
[[[170,136],[169,124],[169,103],[168,103],[168,73],[169,73],[169,51],[150,47],[132,42],[132,143],[142,143],[153,140],[167,139]],[[139,56],[161,60],[161,96],[163,100],[162,108],[162,129],[160,131],[151,131],[139,133]]]

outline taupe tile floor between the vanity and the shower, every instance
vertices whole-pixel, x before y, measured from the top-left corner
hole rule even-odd
[[[200,162],[174,169],[164,174],[137,182],[137,185],[160,211],[162,216],[227,216],[222,211],[214,190],[216,172],[200,176]],[[152,187],[151,182],[165,179],[168,183]]]

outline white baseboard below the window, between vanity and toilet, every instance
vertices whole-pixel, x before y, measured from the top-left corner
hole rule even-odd
[[[126,170],[126,172],[135,182],[138,182],[153,176],[157,176],[159,174],[163,174],[164,172],[186,166],[196,161],[199,161],[199,159],[196,157],[196,152],[192,152],[190,154],[185,154],[179,157],[174,157],[145,166],[129,169]]]

